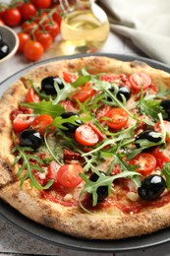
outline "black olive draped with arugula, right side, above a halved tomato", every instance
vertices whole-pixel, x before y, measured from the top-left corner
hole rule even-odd
[[[149,142],[154,142],[154,143],[160,142],[161,141],[161,137],[154,137],[153,133],[156,133],[156,132],[152,131],[152,130],[146,130],[146,131],[140,133],[137,136],[136,141],[135,141],[136,147],[140,148],[140,144],[137,142],[138,140],[145,139],[145,140],[147,140]]]

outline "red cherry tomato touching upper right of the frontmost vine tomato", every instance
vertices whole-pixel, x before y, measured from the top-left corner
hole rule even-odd
[[[34,33],[34,36],[35,39],[42,44],[44,50],[47,50],[51,46],[53,39],[50,33],[37,31]]]

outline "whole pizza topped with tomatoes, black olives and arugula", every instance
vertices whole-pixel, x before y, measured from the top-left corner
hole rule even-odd
[[[85,239],[170,225],[170,75],[104,56],[32,67],[0,101],[0,199]]]

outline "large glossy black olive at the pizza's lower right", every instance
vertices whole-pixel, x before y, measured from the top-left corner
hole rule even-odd
[[[143,200],[154,200],[163,193],[165,188],[165,179],[160,175],[154,174],[142,180],[142,185],[138,188],[138,193]]]

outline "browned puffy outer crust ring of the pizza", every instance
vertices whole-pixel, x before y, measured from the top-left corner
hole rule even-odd
[[[169,226],[170,203],[159,208],[143,209],[140,214],[130,215],[117,208],[108,208],[107,211],[89,215],[80,207],[64,207],[42,199],[38,190],[30,188],[28,180],[21,189],[20,181],[15,176],[18,165],[13,166],[15,157],[11,154],[10,112],[25,99],[31,80],[39,87],[40,81],[47,76],[61,76],[63,71],[75,73],[82,68],[87,68],[91,74],[114,72],[130,75],[145,72],[157,86],[170,86],[170,75],[164,71],[139,61],[122,62],[107,57],[61,60],[30,70],[7,90],[0,101],[0,198],[38,224],[86,239],[120,239]]]

